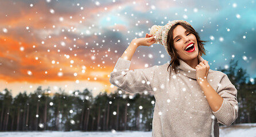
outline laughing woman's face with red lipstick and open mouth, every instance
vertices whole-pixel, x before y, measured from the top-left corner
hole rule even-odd
[[[173,30],[173,43],[178,57],[183,61],[195,59],[198,55],[196,36],[189,33],[183,26],[178,25]],[[189,48],[187,48],[189,47]]]

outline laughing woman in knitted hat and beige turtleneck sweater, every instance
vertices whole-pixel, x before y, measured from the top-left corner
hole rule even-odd
[[[137,47],[155,42],[165,47],[170,63],[129,70]],[[152,136],[219,136],[218,123],[230,125],[238,117],[236,88],[201,57],[202,42],[188,22],[155,25],[146,38],[131,41],[111,72],[110,83],[122,90],[153,92]]]

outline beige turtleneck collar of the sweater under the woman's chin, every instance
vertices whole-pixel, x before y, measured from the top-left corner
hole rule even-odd
[[[199,59],[199,63],[204,61],[204,59],[201,56],[198,56],[198,59]],[[192,68],[181,59],[179,59],[179,62],[180,62],[180,65],[177,66],[178,72],[180,72],[181,74],[189,78],[196,79],[196,69]]]

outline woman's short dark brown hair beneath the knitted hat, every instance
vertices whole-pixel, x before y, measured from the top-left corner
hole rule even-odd
[[[174,70],[175,73],[177,71],[176,67],[180,65],[180,62],[179,62],[177,51],[176,51],[176,49],[174,49],[173,30],[178,25],[183,26],[184,29],[186,29],[189,33],[192,33],[196,36],[196,41],[197,41],[197,45],[198,45],[198,49],[199,49],[198,55],[200,55],[200,56],[203,54],[205,55],[205,49],[204,49],[203,42],[206,42],[206,41],[201,41],[199,34],[195,31],[195,29],[193,29],[193,27],[191,27],[189,25],[186,25],[184,23],[177,23],[176,25],[172,26],[169,30],[168,37],[167,37],[167,45],[168,45],[167,50],[168,50],[168,54],[170,55],[170,58],[171,58],[170,65],[168,66],[167,71],[168,71],[169,67],[171,66],[171,69]]]

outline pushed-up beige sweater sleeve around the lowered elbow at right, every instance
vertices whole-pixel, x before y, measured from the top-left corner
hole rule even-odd
[[[230,126],[238,118],[238,101],[237,90],[226,74],[220,80],[217,93],[223,98],[222,106],[218,111],[212,112],[218,123]]]

